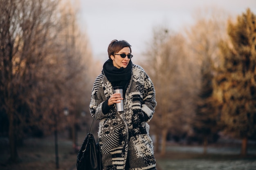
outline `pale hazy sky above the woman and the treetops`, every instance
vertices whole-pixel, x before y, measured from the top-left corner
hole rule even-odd
[[[154,27],[179,31],[193,24],[196,11],[211,7],[232,16],[250,8],[256,15],[256,0],[80,0],[78,20],[93,56],[105,61],[110,41],[128,41],[136,56],[146,51]]]

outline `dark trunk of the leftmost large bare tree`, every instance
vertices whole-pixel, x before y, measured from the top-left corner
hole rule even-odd
[[[16,144],[13,113],[9,114],[9,147],[10,147],[9,161],[17,163],[19,159],[18,159],[18,150],[17,150],[17,144]]]

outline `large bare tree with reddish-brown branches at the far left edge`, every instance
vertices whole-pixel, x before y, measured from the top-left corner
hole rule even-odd
[[[38,85],[38,67],[54,38],[50,34],[56,2],[27,0],[0,1],[0,91],[1,109],[9,119],[9,142],[12,161],[17,161],[17,141],[24,124],[30,121],[38,103],[28,89]],[[48,6],[49,5],[49,6]],[[49,48],[50,49],[50,48]],[[32,104],[33,103],[33,104]],[[34,116],[32,116],[34,117]]]

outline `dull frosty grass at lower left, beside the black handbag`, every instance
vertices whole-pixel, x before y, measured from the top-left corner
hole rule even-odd
[[[58,136],[59,170],[70,170],[76,163],[76,153],[72,148],[72,141],[63,134]],[[2,146],[3,147],[3,146]],[[20,162],[7,163],[9,158],[8,148],[2,148],[0,153],[1,170],[55,170],[54,137],[43,139],[31,138],[24,141],[18,148]]]

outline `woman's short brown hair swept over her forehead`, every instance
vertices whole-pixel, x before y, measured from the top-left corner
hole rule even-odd
[[[115,53],[117,53],[118,51],[120,51],[121,49],[123,49],[124,47],[129,47],[131,53],[132,53],[132,49],[131,49],[131,45],[125,41],[125,40],[112,40],[110,42],[110,44],[108,45],[108,58],[111,59],[111,55],[115,55]]]

